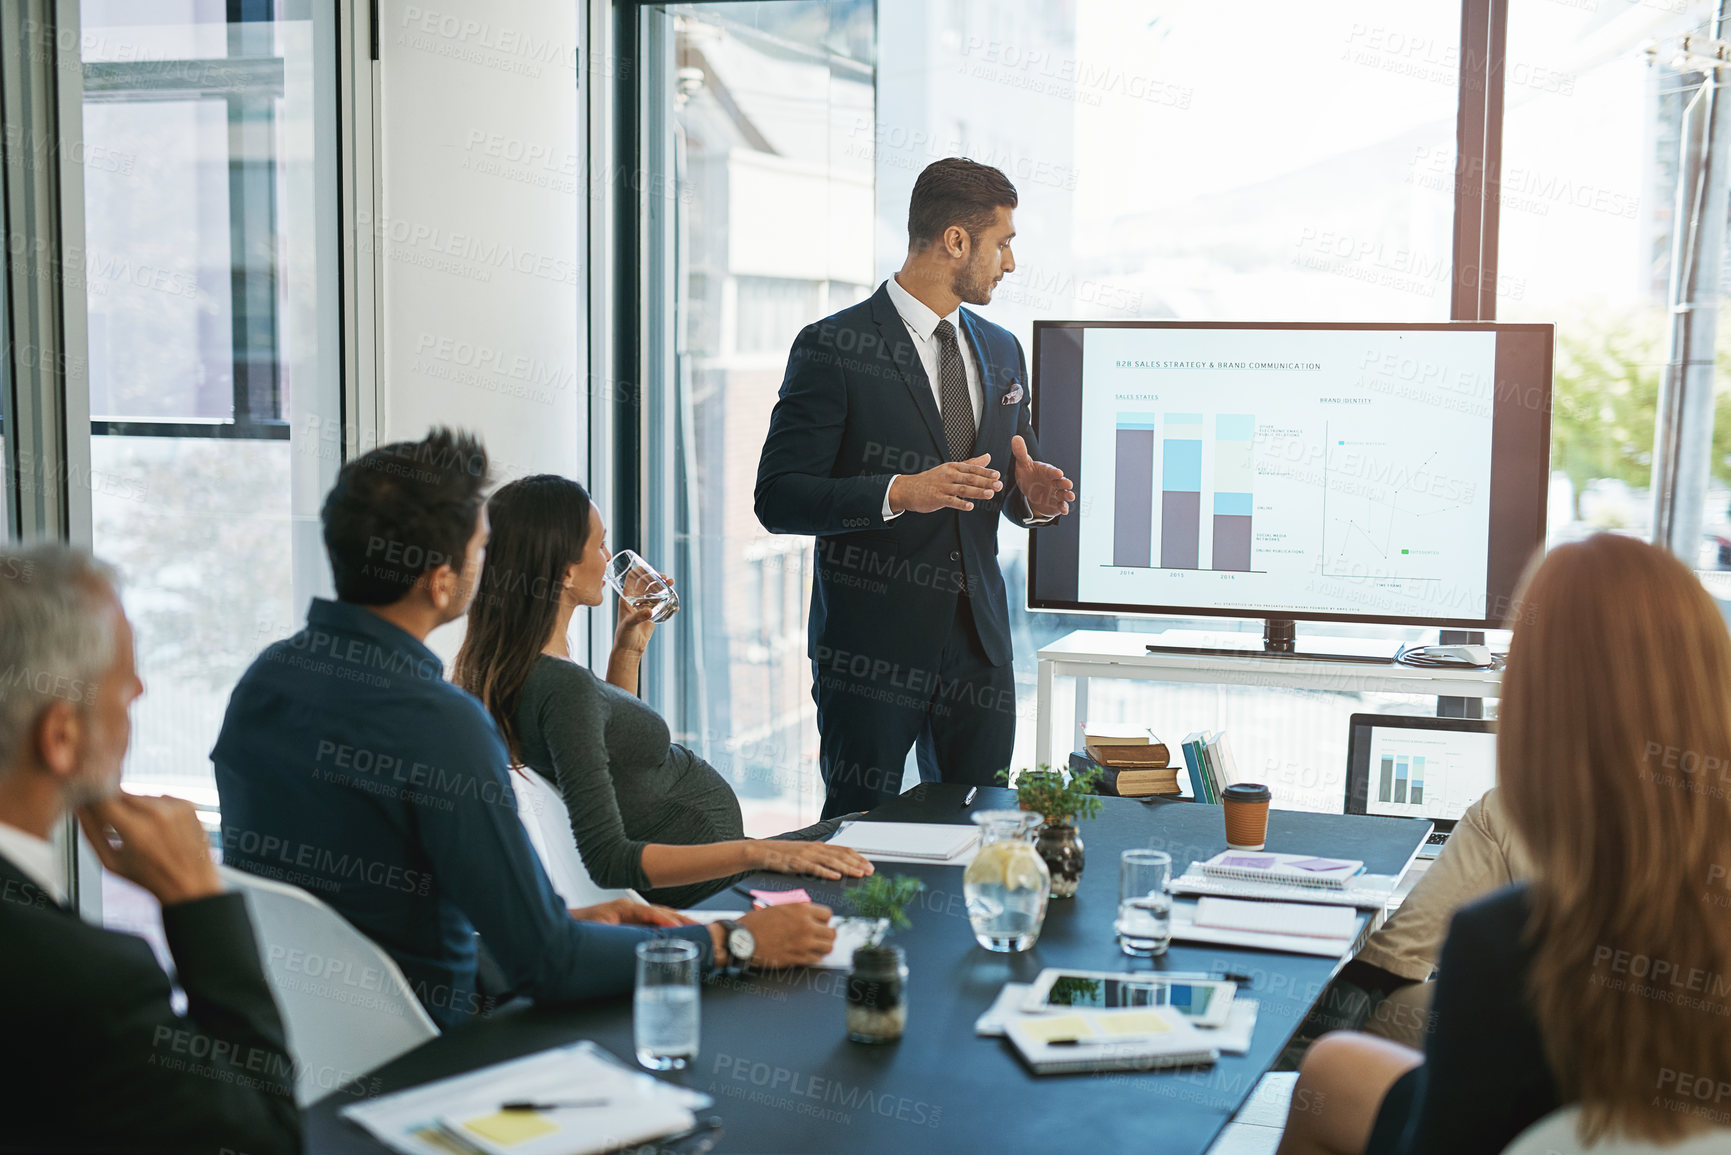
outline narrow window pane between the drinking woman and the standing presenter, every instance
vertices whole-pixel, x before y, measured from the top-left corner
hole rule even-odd
[[[805,615],[812,540],[751,511],[788,345],[876,286],[871,0],[647,10],[665,116],[651,312],[649,535],[682,611],[651,700],[727,774],[750,833],[815,817],[817,726]],[[860,135],[860,125],[867,132]],[[654,140],[651,147],[656,147]],[[665,211],[663,211],[665,210]]]

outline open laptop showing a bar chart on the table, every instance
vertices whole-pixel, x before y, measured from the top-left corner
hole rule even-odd
[[[1497,736],[1483,719],[1354,713],[1347,814],[1428,817],[1419,857],[1437,857],[1466,807],[1497,784]]]

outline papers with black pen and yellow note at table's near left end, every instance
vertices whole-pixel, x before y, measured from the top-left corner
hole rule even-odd
[[[511,1100],[597,1101],[505,1112]],[[625,1067],[590,1041],[341,1108],[403,1155],[589,1155],[687,1131],[713,1100]]]

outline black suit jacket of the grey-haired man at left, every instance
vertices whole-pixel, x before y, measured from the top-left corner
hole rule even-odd
[[[164,907],[163,926],[185,1016],[144,939],[90,926],[0,857],[0,1150],[301,1150],[244,899]]]

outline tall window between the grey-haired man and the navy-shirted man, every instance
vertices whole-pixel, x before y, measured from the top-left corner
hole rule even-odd
[[[331,5],[83,0],[93,547],[145,694],[126,783],[213,807],[228,691],[324,582]],[[317,16],[315,16],[317,12]]]

